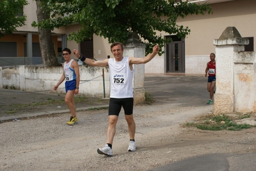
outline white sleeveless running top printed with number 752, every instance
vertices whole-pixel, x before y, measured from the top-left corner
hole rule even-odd
[[[121,61],[114,58],[108,60],[110,70],[110,98],[133,97],[133,69],[130,69],[129,58],[124,57]]]

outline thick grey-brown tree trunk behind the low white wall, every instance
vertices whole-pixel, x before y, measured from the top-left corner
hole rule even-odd
[[[37,22],[49,19],[49,13],[47,10],[40,8],[41,1],[37,0]],[[39,44],[42,55],[42,65],[44,67],[60,66],[60,62],[56,58],[55,49],[53,47],[53,41],[51,39],[51,29],[38,27]]]

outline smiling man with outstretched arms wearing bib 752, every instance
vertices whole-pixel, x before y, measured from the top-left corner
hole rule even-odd
[[[107,144],[103,148],[99,148],[99,154],[113,156],[112,143],[115,135],[115,125],[119,117],[119,112],[123,106],[124,115],[128,124],[130,142],[128,151],[136,150],[135,143],[135,122],[133,120],[133,64],[147,63],[158,54],[159,47],[155,45],[153,52],[144,58],[124,57],[123,44],[114,42],[110,46],[114,58],[109,58],[102,61],[95,61],[86,58],[74,49],[73,53],[84,63],[94,67],[109,67],[110,70],[110,102],[108,108],[108,129],[107,129]]]

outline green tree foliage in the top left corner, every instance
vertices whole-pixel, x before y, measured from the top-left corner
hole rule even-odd
[[[26,15],[22,14],[26,4],[26,0],[0,0],[0,37],[11,35],[17,27],[24,26]]]

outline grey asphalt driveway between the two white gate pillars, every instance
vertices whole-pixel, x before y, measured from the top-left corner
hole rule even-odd
[[[209,100],[206,77],[145,77],[144,87],[157,103],[178,107],[205,106]]]

